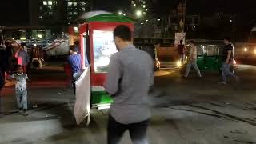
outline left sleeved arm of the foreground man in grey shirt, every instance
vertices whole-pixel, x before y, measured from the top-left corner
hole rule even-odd
[[[110,58],[109,71],[106,77],[106,92],[114,96],[119,90],[119,81],[122,78],[122,66],[116,55]]]

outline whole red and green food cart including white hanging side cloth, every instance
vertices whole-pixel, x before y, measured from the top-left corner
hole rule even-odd
[[[76,82],[77,106],[74,108],[74,114],[78,124],[86,118],[88,125],[90,108],[109,109],[110,103],[113,102],[104,89],[110,56],[117,52],[113,30],[116,26],[125,25],[134,31],[134,25],[133,20],[128,17],[104,11],[86,13],[82,20],[85,22],[78,26],[78,30],[84,72]],[[90,66],[86,66],[86,60]]]

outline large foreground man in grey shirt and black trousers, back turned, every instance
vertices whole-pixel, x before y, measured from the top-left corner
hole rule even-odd
[[[150,119],[149,90],[154,84],[154,62],[132,43],[128,26],[117,26],[114,42],[118,48],[110,58],[106,92],[114,98],[107,128],[107,143],[118,144],[126,130],[134,144],[147,144]]]

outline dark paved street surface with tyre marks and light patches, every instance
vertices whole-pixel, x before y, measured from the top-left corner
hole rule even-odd
[[[240,67],[240,82],[226,86],[218,73],[184,79],[177,69],[156,72],[150,143],[256,143],[256,66]],[[106,143],[105,112],[93,110],[88,127],[75,125],[73,91],[62,70],[35,70],[30,78],[27,117],[15,113],[14,87],[2,90],[0,144]],[[128,134],[121,143],[131,143]]]

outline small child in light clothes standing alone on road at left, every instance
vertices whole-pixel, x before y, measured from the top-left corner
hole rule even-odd
[[[27,116],[27,90],[26,90],[26,80],[28,80],[27,74],[24,73],[23,67],[17,67],[17,73],[10,76],[10,79],[16,80],[15,93],[17,104],[19,108],[19,113]]]

